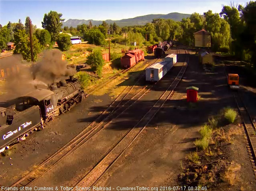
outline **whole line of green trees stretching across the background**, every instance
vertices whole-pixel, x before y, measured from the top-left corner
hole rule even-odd
[[[110,35],[113,43],[124,42],[123,33],[127,34],[127,42],[150,45],[158,41],[178,40],[181,44],[193,46],[193,33],[205,29],[211,33],[212,50],[217,52],[229,52],[242,60],[251,61],[256,65],[256,2],[250,1],[245,6],[230,4],[223,6],[221,12],[213,13],[208,10],[203,15],[193,13],[189,18],[183,18],[176,22],[171,19],[154,19],[143,26],[119,27],[116,23],[108,24],[105,21],[100,26],[81,24],[77,27],[62,28],[62,14],[50,11],[45,14],[42,22],[44,29],[33,26],[33,45],[35,54],[45,48],[51,48],[53,42],[57,42],[61,50],[68,50],[70,36],[79,35],[90,44],[104,45]],[[16,53],[22,53],[24,59],[30,59],[29,51],[29,21],[27,17],[25,25],[21,20],[6,26],[0,25],[0,48],[6,48],[7,42],[14,42]],[[63,31],[60,34],[60,31]],[[35,55],[36,56],[36,55]]]

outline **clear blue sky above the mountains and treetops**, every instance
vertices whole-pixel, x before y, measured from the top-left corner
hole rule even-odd
[[[249,0],[234,1],[245,4]],[[50,10],[62,13],[62,18],[120,20],[146,14],[180,12],[203,14],[207,10],[219,13],[230,0],[0,0],[0,24],[25,22],[29,16],[37,28],[42,28],[43,16]]]

